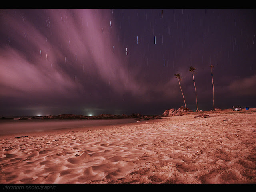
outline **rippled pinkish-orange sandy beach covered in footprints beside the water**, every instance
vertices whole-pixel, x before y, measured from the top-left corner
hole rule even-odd
[[[24,136],[0,137],[2,184],[256,183],[255,108]]]

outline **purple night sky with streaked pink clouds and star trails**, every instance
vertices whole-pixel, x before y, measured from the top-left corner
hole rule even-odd
[[[255,9],[2,9],[0,116],[256,107]]]

